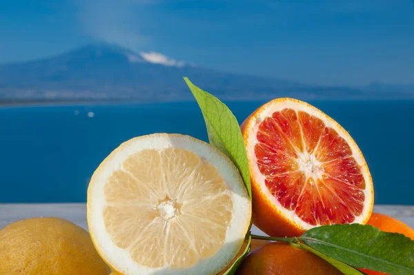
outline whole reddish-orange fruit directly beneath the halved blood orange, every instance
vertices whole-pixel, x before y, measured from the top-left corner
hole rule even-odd
[[[338,269],[322,258],[288,243],[268,243],[251,252],[237,269],[237,275],[339,275]]]

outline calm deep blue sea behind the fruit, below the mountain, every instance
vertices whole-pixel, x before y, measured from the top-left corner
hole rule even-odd
[[[242,123],[262,103],[228,106]],[[311,103],[361,148],[375,203],[414,204],[414,101]],[[178,132],[207,140],[195,102],[0,108],[0,125],[0,203],[84,202],[97,165],[134,136]]]

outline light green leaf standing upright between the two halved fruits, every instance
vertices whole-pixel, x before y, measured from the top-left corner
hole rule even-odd
[[[236,117],[217,97],[193,85],[188,78],[184,77],[184,80],[203,113],[210,144],[226,154],[235,163],[251,198],[246,147]]]

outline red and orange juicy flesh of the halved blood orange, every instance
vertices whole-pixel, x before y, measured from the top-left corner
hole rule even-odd
[[[255,156],[271,194],[310,225],[352,223],[362,214],[365,181],[351,147],[311,114],[292,109],[266,117]]]

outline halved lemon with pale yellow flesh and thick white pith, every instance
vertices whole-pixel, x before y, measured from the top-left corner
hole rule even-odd
[[[217,274],[251,218],[230,159],[179,134],[120,145],[93,174],[87,207],[92,241],[117,274]]]

